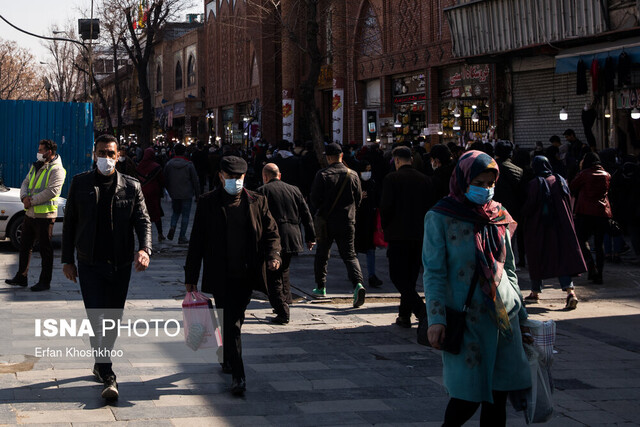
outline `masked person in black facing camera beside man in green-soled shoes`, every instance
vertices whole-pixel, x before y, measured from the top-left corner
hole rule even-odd
[[[373,243],[373,233],[376,230],[379,200],[376,183],[371,177],[371,164],[367,160],[360,161],[358,175],[362,186],[362,201],[356,211],[355,249],[356,252],[367,254],[369,286],[378,288],[382,286],[382,280],[376,276],[376,246]]]

